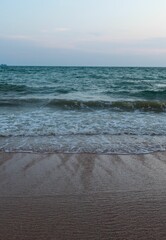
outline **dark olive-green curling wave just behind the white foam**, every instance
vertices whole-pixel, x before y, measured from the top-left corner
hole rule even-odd
[[[166,101],[82,101],[73,99],[1,99],[0,106],[40,106],[61,110],[155,111],[166,112]]]

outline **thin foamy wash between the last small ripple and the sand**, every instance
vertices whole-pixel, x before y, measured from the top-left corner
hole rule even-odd
[[[71,135],[0,137],[0,151],[51,154],[133,155],[166,151],[166,136]]]

